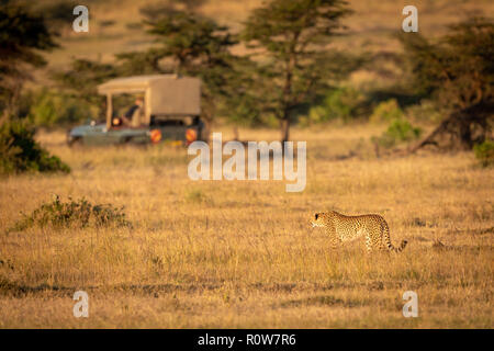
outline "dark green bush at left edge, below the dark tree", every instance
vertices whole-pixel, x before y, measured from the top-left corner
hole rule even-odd
[[[34,140],[25,122],[5,122],[0,125],[0,173],[29,171],[68,173],[70,168]]]

